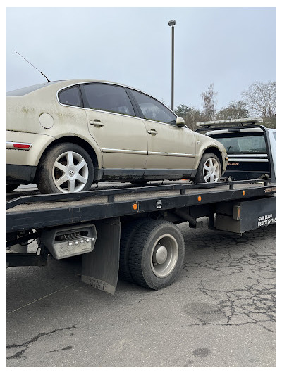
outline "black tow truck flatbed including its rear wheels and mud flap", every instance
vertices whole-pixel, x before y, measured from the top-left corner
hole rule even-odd
[[[7,247],[21,249],[6,255],[8,266],[47,265],[50,253],[56,259],[81,254],[82,281],[95,288],[114,293],[120,267],[128,281],[158,289],[171,284],[182,265],[184,242],[175,224],[197,228],[200,217],[209,217],[209,229],[242,234],[276,222],[276,184],[270,179],[124,186],[7,194]],[[40,255],[28,253],[32,239]],[[85,247],[86,241],[92,246]]]

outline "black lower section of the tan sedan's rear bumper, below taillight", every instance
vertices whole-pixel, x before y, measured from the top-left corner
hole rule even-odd
[[[6,184],[29,184],[35,179],[36,166],[6,164]]]

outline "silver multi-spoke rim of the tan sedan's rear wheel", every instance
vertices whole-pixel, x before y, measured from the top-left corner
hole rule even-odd
[[[89,170],[85,158],[75,151],[61,153],[53,166],[54,184],[62,193],[82,191],[88,181]]]

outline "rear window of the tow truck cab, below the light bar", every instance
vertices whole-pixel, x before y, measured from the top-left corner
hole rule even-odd
[[[239,134],[211,134],[212,138],[217,139],[226,148],[230,155],[236,153],[266,153],[266,144],[263,133]]]

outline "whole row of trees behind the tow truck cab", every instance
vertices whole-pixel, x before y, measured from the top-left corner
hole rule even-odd
[[[216,109],[214,84],[201,94],[202,110],[197,110],[186,104],[180,104],[174,112],[183,117],[186,125],[197,129],[197,122],[228,120],[233,118],[261,117],[263,125],[276,129],[276,81],[254,82],[242,92],[241,100],[232,101],[228,106]]]

